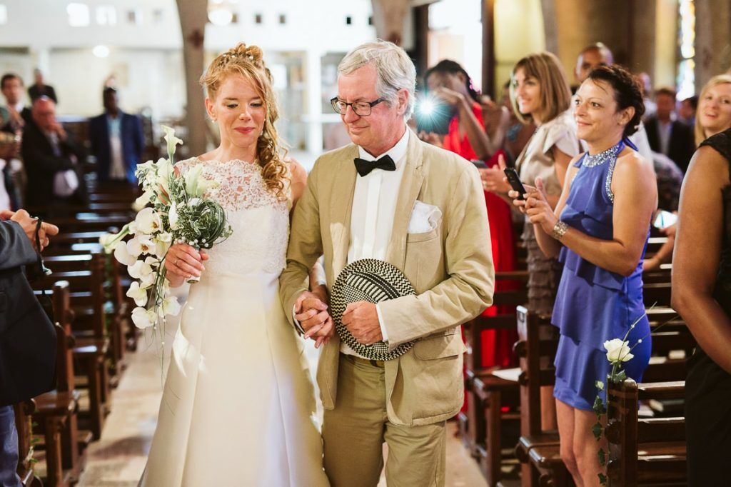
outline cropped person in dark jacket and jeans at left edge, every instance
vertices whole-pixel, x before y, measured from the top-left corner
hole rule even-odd
[[[18,432],[12,404],[53,388],[56,339],[38,336],[29,323],[48,318],[23,275],[23,265],[37,262],[37,220],[25,210],[0,212],[0,486],[20,487]],[[39,252],[58,227],[43,223]],[[32,350],[29,353],[29,350]],[[28,360],[32,358],[32,360]]]

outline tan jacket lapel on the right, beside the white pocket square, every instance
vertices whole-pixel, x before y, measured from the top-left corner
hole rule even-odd
[[[386,261],[404,270],[406,263],[406,235],[409,230],[414,203],[419,197],[424,182],[422,142],[414,132],[409,134],[409,146],[406,150],[406,167],[398,189],[396,211],[393,215],[393,230],[386,250]]]

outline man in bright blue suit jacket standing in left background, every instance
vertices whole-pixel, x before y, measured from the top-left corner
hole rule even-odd
[[[137,116],[119,109],[117,91],[105,88],[105,113],[89,120],[91,153],[96,156],[99,181],[137,183],[135,170],[142,162],[145,135]]]

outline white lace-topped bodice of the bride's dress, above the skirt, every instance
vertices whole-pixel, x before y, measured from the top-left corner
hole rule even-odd
[[[219,184],[204,197],[221,203],[233,229],[226,241],[208,250],[206,273],[281,273],[289,240],[289,196],[279,200],[269,192],[257,164],[194,157],[175,167],[185,173],[195,165],[203,165],[202,176]]]

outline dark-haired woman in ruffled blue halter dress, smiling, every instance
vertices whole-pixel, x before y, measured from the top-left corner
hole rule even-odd
[[[624,363],[635,380],[641,380],[650,358],[642,259],[657,188],[652,162],[627,140],[643,112],[640,88],[629,72],[616,66],[595,69],[575,98],[577,137],[586,141],[588,152],[569,165],[556,211],[546,202],[540,179],[527,188],[525,201],[514,200],[534,224],[542,251],[564,263],[552,317],[561,330],[553,396],[561,458],[577,486],[599,485],[596,453],[602,444],[591,426],[595,382],[610,371],[604,342],[628,331],[630,346],[643,339]]]

